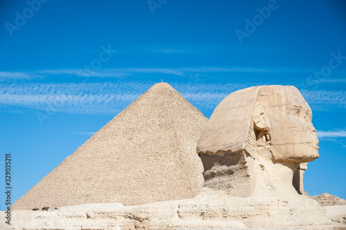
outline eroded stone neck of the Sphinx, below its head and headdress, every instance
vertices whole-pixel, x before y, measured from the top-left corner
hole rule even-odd
[[[270,148],[256,148],[248,154],[222,152],[200,155],[204,167],[204,187],[246,198],[252,195],[302,194],[302,173],[297,162],[277,162]],[[297,176],[298,175],[298,176]]]

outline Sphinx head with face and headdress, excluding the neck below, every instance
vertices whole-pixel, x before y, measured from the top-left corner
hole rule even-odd
[[[310,162],[318,157],[311,108],[294,86],[257,86],[228,95],[215,108],[197,145],[209,155],[255,155],[267,146],[277,161]]]

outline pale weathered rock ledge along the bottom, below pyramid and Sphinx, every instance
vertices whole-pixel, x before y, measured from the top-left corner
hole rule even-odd
[[[203,192],[194,199],[156,202],[132,207],[66,207],[57,211],[15,211],[6,229],[336,229],[346,227],[346,206],[316,207],[311,198],[234,198]],[[3,213],[1,213],[3,215]],[[13,213],[12,213],[13,215]],[[321,218],[322,215],[322,218]],[[1,216],[0,216],[1,217]],[[333,221],[332,221],[333,219]]]

